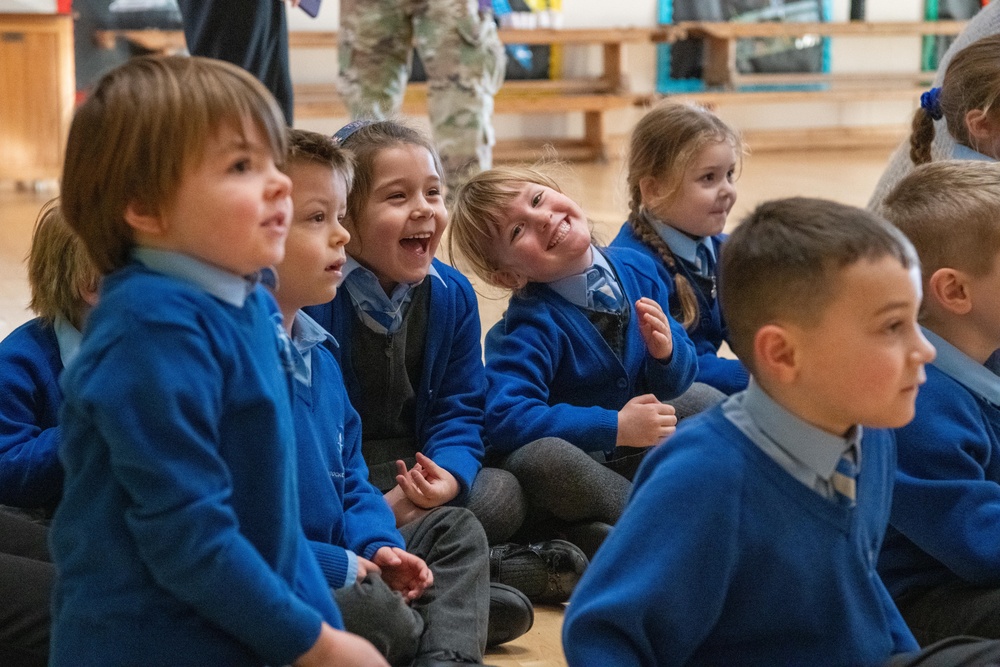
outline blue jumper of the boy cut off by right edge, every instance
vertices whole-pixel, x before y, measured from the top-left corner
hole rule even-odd
[[[892,528],[879,561],[889,591],[1000,585],[1000,409],[928,365],[916,417],[896,437]]]

